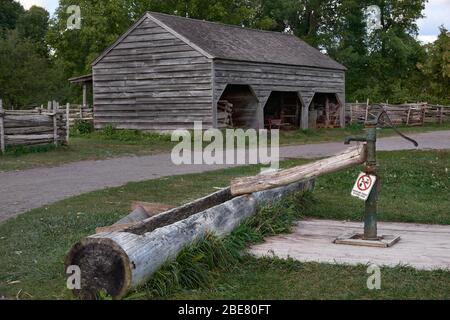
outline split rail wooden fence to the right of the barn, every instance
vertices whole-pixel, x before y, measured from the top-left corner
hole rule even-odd
[[[384,108],[394,125],[423,126],[428,123],[443,124],[450,121],[450,106],[414,104],[369,104],[348,103],[347,123],[365,123],[373,119]]]

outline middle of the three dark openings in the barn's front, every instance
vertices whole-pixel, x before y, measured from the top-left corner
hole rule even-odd
[[[267,129],[294,130],[300,127],[302,104],[296,92],[272,91],[264,107]]]

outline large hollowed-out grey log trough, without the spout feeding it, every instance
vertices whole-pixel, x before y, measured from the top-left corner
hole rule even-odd
[[[232,199],[227,199],[227,189],[168,211],[172,219],[163,213],[159,215],[163,219],[150,218],[152,223],[146,221],[137,229],[90,236],[77,243],[66,259],[66,268],[75,265],[81,269],[81,290],[75,293],[83,299],[95,299],[100,291],[106,291],[120,299],[206,234],[223,237],[261,206],[313,187],[314,181],[308,180]],[[221,199],[227,200],[219,203]],[[150,232],[144,232],[146,226]]]

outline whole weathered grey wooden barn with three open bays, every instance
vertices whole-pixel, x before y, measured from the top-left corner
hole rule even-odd
[[[95,126],[345,125],[345,67],[293,35],[146,13],[92,65]]]

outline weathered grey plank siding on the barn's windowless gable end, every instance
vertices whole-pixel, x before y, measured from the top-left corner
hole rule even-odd
[[[150,19],[93,66],[95,126],[213,124],[212,62]]]

